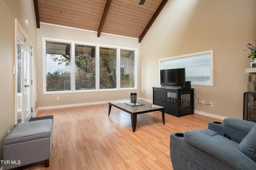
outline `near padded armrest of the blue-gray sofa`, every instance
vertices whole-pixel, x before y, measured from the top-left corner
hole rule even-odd
[[[228,144],[220,143],[200,131],[187,131],[184,133],[184,139],[188,144],[208,153],[234,169],[250,170],[256,167],[256,162],[244,153]]]

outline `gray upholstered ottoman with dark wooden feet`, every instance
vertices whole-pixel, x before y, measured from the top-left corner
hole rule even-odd
[[[17,124],[4,139],[3,170],[43,160],[48,167],[52,144],[52,119]]]

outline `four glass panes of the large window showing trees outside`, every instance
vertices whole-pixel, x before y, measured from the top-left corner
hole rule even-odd
[[[96,46],[75,44],[73,69],[71,47],[71,43],[46,41],[46,91],[71,91],[72,81],[76,91],[96,89]],[[100,47],[100,89],[116,89],[119,74],[120,88],[135,87],[135,51],[121,49],[120,53],[117,69],[117,49]]]

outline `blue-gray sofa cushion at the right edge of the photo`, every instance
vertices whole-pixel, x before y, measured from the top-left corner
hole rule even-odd
[[[238,150],[256,162],[256,125],[238,145]]]

